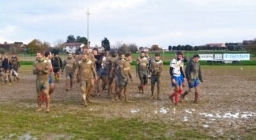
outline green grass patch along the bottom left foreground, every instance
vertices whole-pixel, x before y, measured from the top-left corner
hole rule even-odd
[[[175,130],[177,126],[161,120],[144,122],[142,118],[111,118],[97,116],[84,108],[77,108],[76,114],[69,111],[35,113],[35,108],[0,105],[0,138],[19,139],[30,134],[36,139],[205,139],[207,134],[193,129]],[[63,109],[61,107],[60,109]],[[7,119],[6,119],[7,118]],[[180,128],[180,127],[178,127]],[[170,132],[173,130],[173,132]],[[172,134],[171,136],[168,134]],[[12,137],[10,137],[12,136]]]

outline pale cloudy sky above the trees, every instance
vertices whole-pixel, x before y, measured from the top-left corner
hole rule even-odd
[[[204,45],[256,38],[254,0],[1,0],[0,43],[67,36],[111,45]]]

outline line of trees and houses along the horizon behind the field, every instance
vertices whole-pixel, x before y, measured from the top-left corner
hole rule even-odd
[[[65,43],[84,43],[87,45],[88,39],[83,36],[74,36],[68,35],[66,41],[58,40],[51,46],[50,43],[46,41],[40,41],[39,39],[33,39],[31,42],[28,43],[26,48],[18,48],[17,45],[13,45],[12,47],[0,48],[0,53],[4,52],[15,52],[15,53],[36,53],[36,51],[44,51],[44,50],[51,50],[52,53],[65,53],[63,50],[63,45]],[[90,41],[89,41],[90,44]],[[101,46],[104,50],[111,50],[116,49],[122,52],[132,52],[136,53],[138,50],[142,50],[143,46],[138,47],[135,43],[122,43],[120,41],[116,42],[115,45],[110,46],[110,42],[108,38],[104,38],[101,41]],[[161,51],[161,48],[158,45],[152,45],[148,48],[150,51]],[[247,50],[250,53],[256,54],[256,39],[251,41],[244,41],[243,43],[225,43],[225,47],[220,46],[209,46],[209,45],[202,45],[202,46],[191,46],[191,45],[177,45],[177,46],[168,46],[168,50],[177,51],[177,50],[184,50],[184,51],[198,51],[198,50],[228,50],[228,51],[243,51]]]

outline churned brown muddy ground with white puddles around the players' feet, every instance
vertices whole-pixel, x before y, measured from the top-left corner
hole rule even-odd
[[[161,120],[164,123],[182,127],[200,128],[209,136],[229,135],[239,138],[245,132],[256,128],[256,67],[255,66],[202,66],[204,83],[200,85],[200,103],[193,104],[191,92],[186,101],[175,107],[168,99],[173,88],[166,66],[162,75],[161,98],[163,101],[149,99],[150,85],[145,94],[138,93],[139,80],[132,71],[134,81],[130,82],[129,93],[132,103],[111,102],[106,92],[92,97],[88,111],[100,111],[106,118],[142,118],[145,121]],[[36,109],[35,76],[31,69],[20,70],[20,81],[13,85],[0,85],[0,104],[19,104]],[[188,86],[185,87],[187,89]],[[81,90],[75,84],[71,91],[65,91],[65,76],[51,95],[51,111],[65,106],[67,111],[82,108]],[[182,129],[182,128],[181,128]],[[240,137],[241,138],[241,137]]]

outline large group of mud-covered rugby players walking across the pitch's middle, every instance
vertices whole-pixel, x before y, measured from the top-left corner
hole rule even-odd
[[[60,81],[60,73],[65,71],[66,91],[72,90],[72,85],[76,79],[81,88],[81,104],[86,107],[88,102],[92,102],[90,96],[98,96],[107,90],[109,97],[113,102],[119,100],[129,101],[128,85],[132,81],[131,74],[131,53],[104,52],[100,54],[97,48],[89,51],[88,46],[84,46],[82,53],[72,56],[68,54],[67,59],[62,60],[58,54],[51,58],[51,52],[46,51],[36,53],[37,60],[34,64],[33,73],[36,74],[36,92],[38,109],[42,111],[41,102],[46,102],[46,112],[48,113],[50,97],[54,90],[53,81]],[[188,62],[184,72],[184,62],[182,52],[177,52],[177,58],[170,62],[170,76],[174,92],[169,98],[175,106],[179,106],[179,95],[182,102],[184,97],[195,88],[195,103],[198,102],[199,81],[202,82],[199,55],[194,55]],[[61,69],[61,71],[60,71]],[[138,91],[143,94],[144,86],[148,84],[148,78],[151,83],[150,99],[162,100],[160,98],[161,73],[163,71],[163,61],[160,60],[160,54],[155,53],[155,59],[151,60],[147,52],[141,51],[140,57],[136,59],[136,76],[140,78]],[[53,76],[54,74],[54,80]],[[102,81],[100,92],[100,80]],[[115,81],[115,82],[114,82]],[[189,89],[182,94],[184,82],[188,81]],[[157,83],[157,96],[154,95],[155,84]],[[115,92],[113,87],[115,85]],[[94,87],[94,90],[93,90]],[[92,93],[92,94],[91,94]]]

